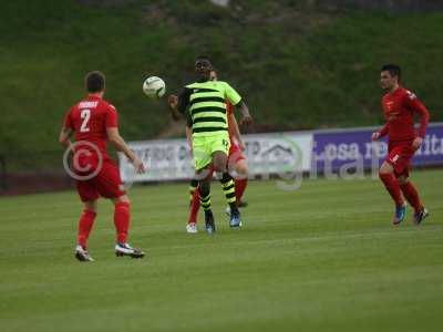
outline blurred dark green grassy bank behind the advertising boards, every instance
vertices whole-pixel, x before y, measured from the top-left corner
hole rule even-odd
[[[443,13],[333,2],[2,1],[0,154],[59,149],[63,114],[92,70],[106,74],[125,138],[183,135],[165,101],[141,87],[155,74],[177,92],[200,53],[249,104],[253,132],[381,124],[385,62],[403,66],[405,85],[442,121]]]

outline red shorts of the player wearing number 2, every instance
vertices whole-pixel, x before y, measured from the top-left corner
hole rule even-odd
[[[90,170],[94,173],[96,165]],[[117,165],[111,158],[103,159],[99,173],[91,179],[76,180],[76,189],[82,201],[95,200],[100,196],[105,198],[117,198],[126,194]],[[85,176],[85,174],[81,174]]]

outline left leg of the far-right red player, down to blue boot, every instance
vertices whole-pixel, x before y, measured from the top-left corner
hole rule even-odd
[[[393,225],[399,225],[404,220],[405,217],[405,204],[401,194],[400,184],[394,175],[394,167],[396,166],[396,162],[399,159],[399,154],[396,154],[395,149],[389,154],[387,160],[380,167],[379,177],[384,184],[388,193],[391,195],[394,204],[395,204],[395,214],[392,220]]]

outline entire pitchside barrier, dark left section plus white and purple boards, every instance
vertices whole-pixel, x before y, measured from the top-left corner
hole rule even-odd
[[[324,175],[375,169],[388,153],[387,141],[371,142],[375,127],[244,135],[251,178],[310,173]],[[148,166],[135,175],[119,155],[126,183],[185,180],[194,175],[186,139],[132,142],[131,147]],[[63,169],[62,151],[0,154],[0,194],[28,194],[72,188]],[[443,123],[431,124],[413,158],[419,167],[443,166]]]

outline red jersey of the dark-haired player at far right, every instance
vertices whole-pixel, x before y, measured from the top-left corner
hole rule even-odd
[[[389,135],[391,142],[412,141],[424,137],[429,122],[426,107],[411,91],[399,87],[382,97],[382,107],[387,124],[379,131],[381,136]],[[421,117],[420,128],[415,133],[414,113]]]

